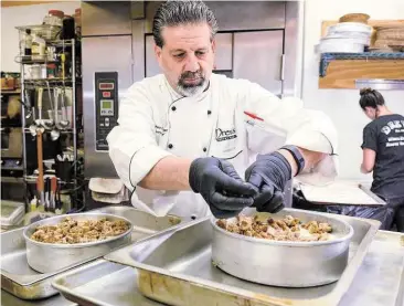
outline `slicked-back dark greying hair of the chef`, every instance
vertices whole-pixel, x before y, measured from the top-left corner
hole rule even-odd
[[[211,40],[217,32],[217,21],[212,10],[200,0],[167,1],[156,11],[152,33],[155,42],[162,48],[161,30],[164,27],[180,24],[208,23],[211,28]]]

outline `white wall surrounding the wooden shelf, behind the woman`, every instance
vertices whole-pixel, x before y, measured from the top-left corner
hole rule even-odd
[[[313,52],[321,36],[321,21],[338,20],[352,12],[371,19],[404,19],[403,0],[307,0],[302,98],[309,108],[326,112],[339,131],[340,176],[342,179],[371,180],[359,171],[362,161],[362,130],[369,119],[359,107],[358,89],[319,89],[319,56]],[[404,114],[404,91],[381,91],[392,112]]]

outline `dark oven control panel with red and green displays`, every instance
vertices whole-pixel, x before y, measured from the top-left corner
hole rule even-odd
[[[107,151],[107,136],[118,120],[118,73],[95,73],[95,149]]]

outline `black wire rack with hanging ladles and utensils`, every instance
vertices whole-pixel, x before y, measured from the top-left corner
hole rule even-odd
[[[35,128],[41,127],[43,130],[41,135],[44,139],[43,151],[45,152],[45,149],[47,149],[44,160],[54,160],[56,175],[57,163],[61,163],[57,160],[57,155],[67,154],[68,156],[73,156],[73,160],[65,160],[67,161],[67,169],[71,169],[71,176],[68,176],[70,179],[64,180],[63,178],[59,177],[57,180],[64,186],[65,189],[72,191],[72,197],[78,199],[81,177],[83,173],[78,169],[81,166],[78,150],[81,148],[78,148],[77,141],[78,130],[83,130],[83,127],[82,122],[77,118],[77,97],[81,95],[79,89],[77,91],[77,86],[82,84],[82,77],[81,62],[79,57],[77,57],[76,51],[79,50],[81,42],[79,40],[77,41],[75,39],[54,40],[55,35],[57,34],[57,29],[55,29],[55,27],[32,25],[18,27],[17,29],[20,31],[20,33],[24,33],[26,29],[31,29],[33,33],[42,33],[42,38],[44,38],[46,42],[46,48],[52,48],[53,50],[52,56],[49,56],[49,54],[38,56],[35,54],[34,56],[20,55],[17,57],[17,61],[20,63],[21,67],[21,99],[25,101],[28,93],[31,93],[29,95],[31,99],[30,108],[23,107],[22,109],[22,168],[25,186],[28,188],[28,186],[32,187],[36,184],[36,175],[34,172],[36,167],[32,167],[33,162],[38,166],[38,162],[32,157],[33,155],[36,156],[36,136],[35,139],[33,139],[34,141],[31,141],[30,139],[33,138],[33,135],[31,134],[35,133]],[[43,33],[46,33],[46,36],[43,36]],[[52,77],[49,77],[50,64],[53,64],[53,66],[56,68],[55,71],[52,71]],[[46,68],[46,77],[26,77],[28,68],[32,65],[40,65],[41,68]],[[60,73],[57,73],[57,68]],[[42,88],[41,92],[43,97],[43,101],[41,98],[40,103],[42,106],[41,108],[39,107],[39,88]],[[34,97],[32,93],[34,93]],[[68,105],[66,104],[66,101],[68,101]],[[30,116],[26,116],[28,114],[30,114]],[[40,117],[42,118],[42,124],[41,120],[39,120]],[[66,124],[66,122],[68,123]],[[50,124],[47,125],[47,123]],[[34,126],[34,128],[32,128],[32,126]],[[33,152],[33,150],[35,151]],[[45,162],[44,169],[46,169]],[[30,199],[26,197],[26,205],[29,201]],[[77,203],[72,204],[76,205]]]

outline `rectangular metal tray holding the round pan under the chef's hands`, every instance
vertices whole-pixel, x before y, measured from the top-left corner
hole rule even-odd
[[[310,214],[308,211],[287,210],[293,215],[294,212]],[[347,221],[354,230],[349,264],[338,282],[318,287],[265,286],[222,272],[211,262],[212,224],[209,218],[125,246],[104,257],[137,267],[139,291],[169,305],[338,305],[361,266],[380,222],[337,218]]]

